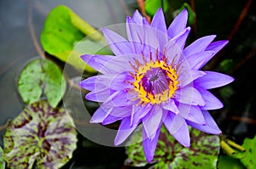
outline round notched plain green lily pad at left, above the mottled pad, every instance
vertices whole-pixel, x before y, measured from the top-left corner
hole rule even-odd
[[[32,60],[21,70],[18,79],[18,90],[26,104],[38,101],[44,91],[49,104],[56,107],[66,86],[61,70],[48,59]]]

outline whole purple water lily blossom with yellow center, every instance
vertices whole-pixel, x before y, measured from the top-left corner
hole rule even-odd
[[[115,56],[81,56],[102,73],[80,82],[91,91],[86,99],[102,102],[90,122],[107,125],[120,120],[115,145],[142,124],[148,162],[154,158],[162,124],[185,147],[190,144],[188,125],[202,132],[221,133],[208,110],[223,104],[207,89],[224,86],[233,78],[201,68],[227,41],[212,42],[216,36],[207,36],[184,48],[190,31],[187,20],[184,9],[166,29],[161,8],[151,24],[136,11],[126,20],[128,40],[103,29]]]

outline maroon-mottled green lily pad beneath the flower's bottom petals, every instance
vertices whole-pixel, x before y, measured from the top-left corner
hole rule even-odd
[[[219,138],[195,129],[190,131],[191,145],[189,148],[181,144],[161,128],[160,138],[155,149],[153,168],[216,168],[219,154]],[[141,138],[141,132],[137,132],[131,138],[137,141]],[[133,144],[127,149],[128,166],[145,166],[146,158],[143,154],[143,145]]]

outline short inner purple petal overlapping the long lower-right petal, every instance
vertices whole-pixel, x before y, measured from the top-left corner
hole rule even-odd
[[[179,104],[179,115],[184,119],[195,122],[197,124],[206,124],[205,118],[202,115],[201,109],[197,105]]]

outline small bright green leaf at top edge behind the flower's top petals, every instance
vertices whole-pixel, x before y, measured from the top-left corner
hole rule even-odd
[[[145,11],[149,16],[154,16],[158,8],[163,8],[164,13],[166,14],[168,10],[168,1],[167,0],[146,0]]]

